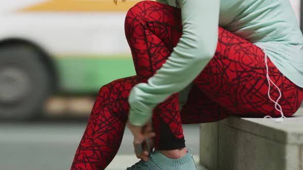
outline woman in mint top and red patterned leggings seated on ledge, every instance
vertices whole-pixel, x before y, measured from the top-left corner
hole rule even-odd
[[[104,169],[127,120],[142,159],[128,169],[195,169],[182,123],[282,118],[300,107],[303,37],[286,0],[143,1],[125,34],[137,76],[100,89],[71,169]],[[155,151],[145,153],[150,119]]]

